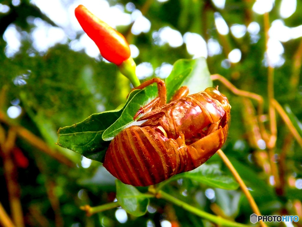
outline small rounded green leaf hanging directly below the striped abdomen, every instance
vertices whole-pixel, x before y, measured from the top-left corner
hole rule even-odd
[[[139,217],[147,212],[149,198],[134,186],[116,180],[116,198],[120,206],[133,216]]]

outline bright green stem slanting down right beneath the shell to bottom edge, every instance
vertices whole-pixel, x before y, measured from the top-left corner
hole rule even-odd
[[[223,219],[222,217],[218,217],[216,215],[213,214],[209,214],[207,212],[204,212],[194,206],[189,205],[188,203],[185,203],[173,196],[170,196],[168,193],[165,193],[163,191],[159,191],[156,192],[155,190],[153,191],[153,193],[156,193],[156,198],[161,198],[161,199],[165,199],[177,206],[180,206],[181,208],[195,214],[198,215],[201,218],[207,219],[213,223],[216,223],[219,226],[230,226],[230,227],[247,227],[248,225],[244,225],[241,223],[237,223],[237,222],[232,222],[230,220],[226,220]]]

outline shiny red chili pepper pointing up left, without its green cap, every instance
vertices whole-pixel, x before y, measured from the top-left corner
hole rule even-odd
[[[92,14],[83,5],[75,9],[75,15],[83,30],[98,46],[103,58],[116,65],[130,58],[129,44],[122,34]]]

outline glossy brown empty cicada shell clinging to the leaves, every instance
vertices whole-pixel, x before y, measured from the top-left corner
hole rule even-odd
[[[157,78],[138,88],[154,82],[162,86],[157,99],[165,99]],[[118,133],[105,154],[104,167],[125,184],[149,186],[193,170],[226,141],[231,106],[217,88],[157,104],[147,105],[153,110],[139,119],[147,121]]]

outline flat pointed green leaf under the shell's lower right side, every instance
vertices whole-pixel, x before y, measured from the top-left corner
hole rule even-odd
[[[227,190],[235,190],[239,184],[231,176],[223,174],[219,164],[202,164],[198,168],[176,175],[177,178],[188,178],[207,186]]]

